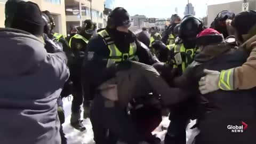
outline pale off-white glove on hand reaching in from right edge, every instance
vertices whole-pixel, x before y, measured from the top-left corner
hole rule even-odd
[[[202,77],[199,81],[199,90],[202,94],[214,92],[219,90],[219,78],[220,72],[215,70],[204,69],[205,77]]]

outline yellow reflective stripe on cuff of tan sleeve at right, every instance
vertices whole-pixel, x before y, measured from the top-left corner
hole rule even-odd
[[[225,91],[234,90],[234,71],[235,69],[222,70],[219,79],[219,88]]]

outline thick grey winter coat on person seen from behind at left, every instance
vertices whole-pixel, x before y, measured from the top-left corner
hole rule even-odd
[[[3,144],[59,144],[57,99],[68,79],[65,53],[41,39],[0,29],[0,139]]]

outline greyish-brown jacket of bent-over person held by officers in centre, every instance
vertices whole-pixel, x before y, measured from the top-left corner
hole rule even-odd
[[[130,61],[127,67],[130,68],[118,71],[115,78],[98,87],[103,97],[118,101],[123,107],[132,99],[151,92],[161,95],[163,105],[166,106],[187,98],[185,91],[171,88],[154,67],[134,61]]]

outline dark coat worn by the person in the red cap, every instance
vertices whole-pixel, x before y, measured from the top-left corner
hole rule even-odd
[[[201,131],[196,138],[196,144],[204,143],[255,143],[256,128],[256,98],[255,90],[222,91],[202,95],[198,90],[198,81],[204,76],[204,69],[221,70],[241,66],[248,53],[231,47],[209,46],[196,55],[194,62],[187,68],[185,74],[175,79],[176,86],[190,90],[195,99],[194,117],[198,118]],[[244,133],[232,133],[228,125],[242,126],[242,121],[250,125]]]

